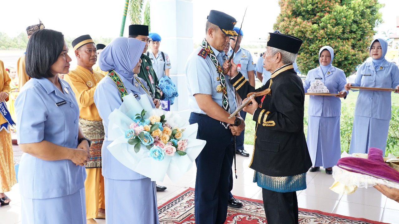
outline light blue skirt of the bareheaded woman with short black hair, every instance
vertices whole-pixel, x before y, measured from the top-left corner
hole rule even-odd
[[[21,216],[23,224],[86,224],[85,189],[57,198],[21,195]]]

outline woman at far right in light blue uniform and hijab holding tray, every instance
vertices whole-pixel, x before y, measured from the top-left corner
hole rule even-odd
[[[396,88],[399,90],[399,69],[385,60],[388,43],[374,39],[370,45],[371,61],[360,65],[354,83],[348,86]],[[370,147],[379,148],[385,155],[389,120],[391,120],[391,92],[360,90],[356,100],[352,139],[349,153],[368,153]]]

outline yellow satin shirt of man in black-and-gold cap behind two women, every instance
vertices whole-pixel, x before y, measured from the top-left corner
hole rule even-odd
[[[97,120],[101,121],[99,112],[96,105],[94,104],[94,91],[97,87],[97,83],[103,79],[104,75],[97,71],[90,72],[88,69],[76,66],[76,69],[69,71],[64,76],[64,80],[67,81],[76,95],[76,100],[79,105],[79,117],[86,120]],[[91,87],[89,87],[92,85]]]

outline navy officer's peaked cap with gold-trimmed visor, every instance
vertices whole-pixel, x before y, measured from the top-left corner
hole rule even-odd
[[[234,30],[234,26],[235,24],[237,24],[237,20],[235,20],[233,16],[229,16],[224,12],[211,10],[207,19],[210,23],[218,26],[221,31],[227,36],[238,36],[238,33]]]

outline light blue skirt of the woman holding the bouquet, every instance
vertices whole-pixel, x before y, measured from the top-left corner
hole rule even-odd
[[[155,182],[104,178],[106,224],[159,224]]]

